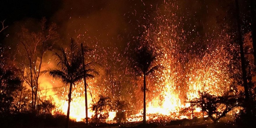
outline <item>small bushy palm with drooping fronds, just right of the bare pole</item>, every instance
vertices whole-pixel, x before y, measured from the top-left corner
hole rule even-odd
[[[103,122],[109,116],[108,112],[111,108],[111,99],[99,95],[99,100],[96,103],[91,104],[91,109],[95,112],[94,119],[96,123]]]

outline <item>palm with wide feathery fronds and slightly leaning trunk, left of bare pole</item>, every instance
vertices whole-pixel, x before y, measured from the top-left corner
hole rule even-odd
[[[59,69],[51,69],[49,75],[61,79],[65,85],[69,85],[67,118],[65,122],[65,128],[68,128],[72,85],[83,78],[82,60],[76,42],[73,39],[71,39],[70,51],[61,48],[60,53],[55,52],[54,55],[57,57]]]

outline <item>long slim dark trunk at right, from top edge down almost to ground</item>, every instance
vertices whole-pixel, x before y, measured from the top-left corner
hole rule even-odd
[[[236,2],[236,15],[237,15],[237,31],[238,31],[238,41],[240,46],[240,55],[241,55],[241,68],[242,68],[242,78],[243,78],[243,87],[245,93],[245,106],[248,108],[248,101],[249,101],[249,92],[248,92],[248,83],[247,83],[247,73],[246,73],[246,65],[245,65],[245,57],[243,51],[243,40],[241,35],[241,22],[239,19],[239,4],[238,0]]]

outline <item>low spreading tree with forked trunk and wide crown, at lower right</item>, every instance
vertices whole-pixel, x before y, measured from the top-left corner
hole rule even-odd
[[[234,95],[215,96],[206,92],[199,92],[199,94],[200,97],[193,99],[190,103],[205,111],[214,123],[238,106],[237,97]]]

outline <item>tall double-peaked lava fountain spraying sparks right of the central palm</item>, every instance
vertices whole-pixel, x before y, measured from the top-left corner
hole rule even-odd
[[[147,88],[154,91],[147,93],[147,120],[158,120],[162,115],[170,119],[192,118],[192,113],[184,115],[180,111],[190,106],[187,102],[191,99],[199,97],[198,91],[222,95],[230,89],[232,80],[227,67],[231,56],[223,45],[229,41],[228,36],[211,40],[212,45],[206,45],[206,49],[193,49],[193,45],[184,49],[185,38],[179,34],[175,18],[173,13],[159,15],[154,19],[156,24],[146,28],[145,38],[155,48],[156,63],[162,67],[151,77],[156,82],[148,81]],[[200,112],[200,108],[195,112]],[[141,114],[129,118],[141,120]]]

